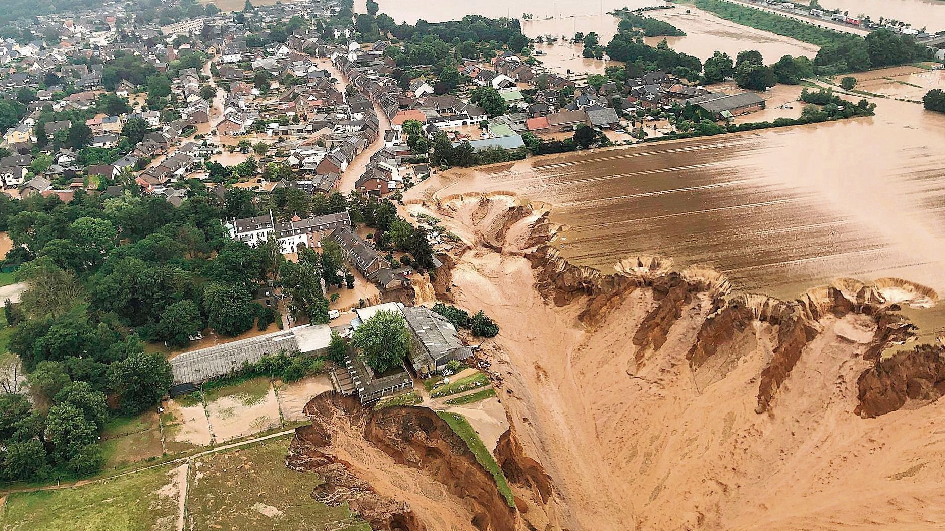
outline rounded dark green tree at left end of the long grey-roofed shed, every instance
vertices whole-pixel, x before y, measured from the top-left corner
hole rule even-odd
[[[171,364],[162,355],[143,350],[113,362],[109,368],[109,382],[119,407],[129,415],[159,403],[172,381]]]

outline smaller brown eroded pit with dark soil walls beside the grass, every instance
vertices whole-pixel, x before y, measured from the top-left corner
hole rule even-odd
[[[445,420],[424,407],[366,409],[326,392],[306,404],[287,464],[316,471],[312,496],[348,503],[372,529],[506,531],[519,528],[491,474]]]

